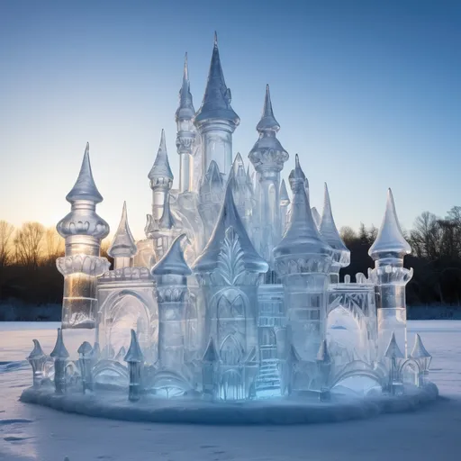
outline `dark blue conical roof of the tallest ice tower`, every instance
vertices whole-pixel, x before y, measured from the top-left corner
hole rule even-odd
[[[195,122],[203,122],[209,119],[227,120],[235,125],[240,123],[240,118],[230,106],[230,89],[226,86],[222,74],[220,51],[218,50],[218,38],[214,32],[214,46],[212,49],[212,61],[208,72],[205,94],[200,109],[195,114]]]

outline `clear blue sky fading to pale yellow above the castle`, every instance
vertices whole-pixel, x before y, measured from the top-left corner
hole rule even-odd
[[[461,205],[461,2],[443,0],[0,2],[0,219],[56,224],[86,141],[116,229],[143,238],[147,175],[175,111],[185,51],[200,106],[213,32],[248,153],[265,86],[278,138],[299,153],[338,226],[379,225],[387,187],[402,226]]]

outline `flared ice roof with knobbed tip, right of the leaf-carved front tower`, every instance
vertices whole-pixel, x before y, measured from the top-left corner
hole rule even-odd
[[[290,222],[284,238],[274,249],[274,256],[285,254],[321,253],[330,254],[328,243],[323,240],[312,218],[309,197],[304,188],[305,176],[295,157],[295,167],[290,173],[293,199],[291,205]]]

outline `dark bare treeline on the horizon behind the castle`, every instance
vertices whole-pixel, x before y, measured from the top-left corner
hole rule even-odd
[[[358,231],[349,227],[340,230],[351,252],[350,266],[341,270],[341,279],[348,274],[355,281],[358,272],[366,275],[368,267],[373,267],[368,249],[377,232],[375,226],[366,228],[364,224]],[[412,249],[405,267],[414,269],[406,288],[407,303],[450,305],[461,311],[461,207],[453,207],[443,219],[430,212],[421,213],[405,238]],[[108,248],[109,241],[104,240],[105,257]],[[59,309],[51,315],[51,308],[43,315],[31,310],[36,305],[61,303],[63,277],[56,268],[56,258],[63,254],[64,240],[54,228],[25,222],[14,229],[0,221],[0,321],[59,320]]]

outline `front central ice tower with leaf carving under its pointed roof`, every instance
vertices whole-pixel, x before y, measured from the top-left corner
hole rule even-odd
[[[254,389],[258,283],[268,265],[249,240],[231,188],[229,183],[212,238],[194,262],[194,273],[205,300],[205,344],[212,338],[221,358],[221,396],[235,400],[248,398]]]

